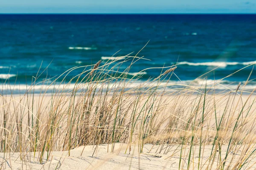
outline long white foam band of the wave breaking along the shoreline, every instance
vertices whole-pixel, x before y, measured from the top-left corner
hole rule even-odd
[[[143,72],[141,72],[143,73]],[[252,91],[252,89],[256,88],[256,82],[250,82],[246,86],[243,86],[244,82],[241,82],[241,86],[239,90],[243,91]],[[182,82],[180,81],[165,81],[165,82],[151,82],[151,81],[129,81],[125,82],[125,88],[126,89],[131,89],[131,88],[152,88],[152,87],[158,87],[158,90],[161,90],[161,87],[166,87],[168,88],[168,91],[176,91],[180,90],[183,88],[193,88],[193,89],[204,89],[205,84],[207,84],[207,89],[216,89],[216,90],[233,90],[236,91],[236,88],[238,86],[238,82],[231,82],[228,80],[212,80],[212,79],[195,79],[195,80],[184,80]],[[47,93],[51,93],[53,90],[55,92],[69,92],[74,89],[77,89],[78,91],[82,89],[87,89],[87,87],[90,85],[90,83],[85,83],[85,84],[55,84],[55,85],[34,85],[34,86],[29,86],[25,84],[20,84],[20,85],[9,85],[9,84],[4,84],[2,85],[3,89],[13,89],[16,92],[15,93],[24,93],[25,91],[34,91],[35,93],[41,93],[42,91],[45,91]],[[188,87],[189,86],[189,87]],[[115,89],[116,83],[99,83],[97,85],[97,89],[104,89],[104,88],[113,88]],[[214,87],[214,88],[213,88]]]

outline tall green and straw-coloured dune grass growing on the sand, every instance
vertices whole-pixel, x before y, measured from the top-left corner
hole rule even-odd
[[[172,88],[169,79],[178,65],[141,82],[139,73],[129,71],[143,58],[124,57],[70,68],[44,82],[38,82],[39,71],[25,94],[12,94],[8,80],[3,82],[11,93],[0,96],[2,166],[7,153],[18,152],[18,159],[27,162],[38,152],[36,161],[43,164],[53,151],[108,144],[113,152],[115,143],[128,144],[127,154],[132,144],[140,153],[145,144],[157,145],[155,155],[178,146],[179,169],[249,169],[255,164],[256,101],[254,91],[243,96],[246,83],[221,93],[215,92],[217,80]],[[124,63],[129,66],[119,71]],[[83,71],[66,82],[75,69]],[[38,84],[41,93],[35,94]],[[204,158],[209,145],[210,156]]]

